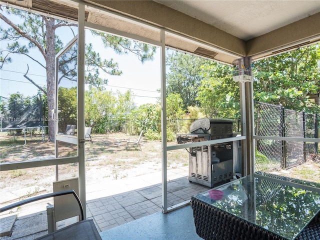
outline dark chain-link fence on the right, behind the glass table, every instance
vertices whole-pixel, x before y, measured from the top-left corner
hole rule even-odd
[[[318,132],[318,115],[284,109],[281,105],[254,102],[255,134],[258,136],[311,137]],[[255,170],[290,168],[317,154],[314,142],[255,140]]]

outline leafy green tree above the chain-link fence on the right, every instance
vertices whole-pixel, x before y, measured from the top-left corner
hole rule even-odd
[[[320,91],[320,47],[313,44],[254,62],[254,100],[318,112],[308,94]]]

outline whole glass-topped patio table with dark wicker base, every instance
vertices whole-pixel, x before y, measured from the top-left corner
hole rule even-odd
[[[204,239],[320,239],[320,188],[256,172],[191,197]]]

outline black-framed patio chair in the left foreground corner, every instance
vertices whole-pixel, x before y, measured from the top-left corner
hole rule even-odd
[[[70,190],[64,190],[64,191],[57,191],[57,192],[51,192],[39,196],[34,196],[25,200],[18,201],[16,203],[4,206],[0,208],[0,212],[9,210],[14,207],[18,207],[33,201],[42,200],[49,197],[54,196],[61,196],[66,194],[73,194],[75,197],[78,205],[79,205],[79,221],[76,223],[73,223],[71,225],[65,226],[63,228],[60,228],[56,231],[53,231],[49,234],[43,235],[37,239],[43,239],[43,240],[51,240],[51,239],[87,239],[87,240],[101,240],[100,234],[98,230],[96,229],[93,220],[92,219],[83,219],[83,208],[81,201],[75,191],[73,189]]]

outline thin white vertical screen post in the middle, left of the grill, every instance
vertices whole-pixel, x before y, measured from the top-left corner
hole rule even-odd
[[[162,163],[162,212],[167,206],[167,150],[166,150],[166,86],[165,86],[165,31],[161,29],[161,163]]]

